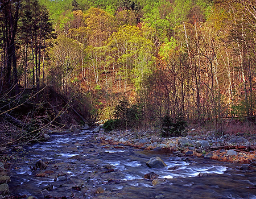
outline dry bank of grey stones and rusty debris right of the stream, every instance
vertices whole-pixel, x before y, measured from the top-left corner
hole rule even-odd
[[[169,150],[177,156],[251,163],[256,160],[256,136],[217,135],[209,131],[200,135],[195,129],[185,137],[163,138],[155,131],[110,131],[96,128],[96,139],[111,144],[124,144],[146,150]],[[83,134],[84,132],[80,132]]]

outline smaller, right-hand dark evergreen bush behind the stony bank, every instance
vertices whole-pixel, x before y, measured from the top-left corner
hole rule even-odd
[[[175,122],[170,116],[166,115],[162,118],[162,131],[161,135],[165,138],[181,136],[185,132],[187,122],[184,121],[183,117],[176,117]]]

